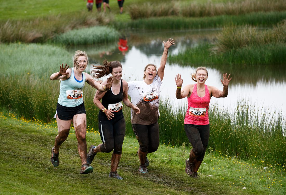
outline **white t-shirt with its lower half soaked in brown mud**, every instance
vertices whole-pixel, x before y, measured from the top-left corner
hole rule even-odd
[[[135,114],[131,109],[132,124],[150,125],[158,121],[161,85],[162,80],[158,74],[150,85],[144,81],[128,82],[128,95],[131,97],[131,102],[140,109],[140,114]]]

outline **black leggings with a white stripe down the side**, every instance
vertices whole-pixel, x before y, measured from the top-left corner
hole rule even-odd
[[[101,152],[111,152],[114,149],[115,154],[122,153],[122,143],[125,136],[125,120],[122,117],[116,117],[108,120],[106,115],[98,114],[98,129],[103,145],[100,146]]]

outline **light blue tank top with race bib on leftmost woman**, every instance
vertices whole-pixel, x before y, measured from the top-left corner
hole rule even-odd
[[[72,68],[71,76],[65,80],[61,80],[59,87],[59,99],[58,103],[62,106],[75,107],[84,102],[83,92],[84,84],[86,83],[86,77],[82,73],[82,80],[79,81],[74,76],[74,68]]]

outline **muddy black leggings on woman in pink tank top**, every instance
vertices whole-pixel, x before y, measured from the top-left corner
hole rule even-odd
[[[210,136],[210,125],[184,125],[186,134],[189,141],[193,146],[193,152],[196,156],[196,160],[202,161],[206,148],[208,147],[208,138]]]

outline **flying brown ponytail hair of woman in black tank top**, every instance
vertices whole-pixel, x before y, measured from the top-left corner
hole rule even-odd
[[[91,71],[93,77],[95,77],[96,79],[99,79],[103,76],[109,75],[110,73],[112,73],[112,69],[117,68],[117,67],[121,67],[122,65],[119,61],[111,61],[108,62],[106,59],[103,61],[103,65],[92,65],[94,67],[94,69]]]

